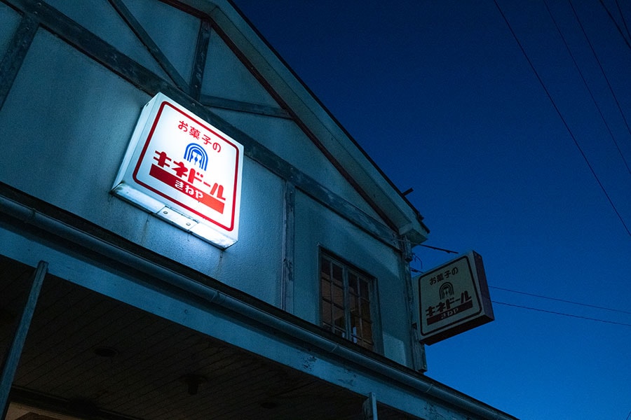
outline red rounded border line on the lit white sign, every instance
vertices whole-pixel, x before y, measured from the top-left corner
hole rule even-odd
[[[205,216],[204,214],[201,214],[199,211],[196,211],[195,209],[191,209],[190,207],[182,204],[181,202],[175,200],[174,198],[169,197],[168,195],[166,195],[165,193],[161,192],[160,190],[156,190],[156,188],[153,188],[153,187],[147,185],[146,183],[143,183],[139,179],[137,179],[136,176],[138,174],[138,170],[140,169],[140,165],[142,164],[142,160],[144,158],[145,153],[147,153],[147,148],[149,148],[149,143],[151,142],[151,137],[154,136],[154,132],[156,130],[156,126],[158,125],[158,120],[160,120],[160,116],[162,114],[162,111],[163,111],[165,105],[170,106],[172,109],[174,109],[175,111],[181,113],[186,118],[189,118],[189,120],[193,120],[195,123],[197,123],[198,125],[201,125],[206,130],[208,130],[209,132],[212,132],[212,134],[215,134],[217,137],[219,137],[220,139],[225,141],[227,144],[229,144],[230,146],[233,146],[233,148],[236,149],[236,162],[235,162],[235,168],[234,168],[234,186],[233,186],[233,197],[232,197],[232,214],[231,214],[231,220],[230,220],[230,226],[229,227],[222,225],[221,223],[213,220],[212,218],[209,218],[208,216]],[[138,185],[143,186],[144,188],[147,188],[147,190],[153,191],[154,193],[160,195],[161,197],[164,197],[165,199],[169,200],[170,202],[174,202],[178,206],[186,209],[187,211],[190,211],[193,214],[196,214],[197,216],[200,216],[201,218],[204,218],[205,220],[209,221],[210,223],[213,223],[213,224],[219,226],[220,228],[222,228],[224,230],[227,230],[228,232],[231,232],[234,229],[234,218],[235,218],[236,204],[237,204],[236,195],[237,195],[238,174],[239,174],[239,148],[235,144],[233,144],[231,141],[229,141],[228,139],[226,139],[225,137],[223,137],[222,135],[217,133],[215,130],[212,130],[212,128],[208,127],[205,123],[202,123],[202,122],[196,120],[195,118],[189,116],[188,114],[184,113],[182,110],[177,109],[175,106],[173,106],[169,102],[163,101],[162,104],[160,104],[160,109],[158,109],[158,113],[156,114],[156,118],[154,118],[154,123],[151,125],[151,130],[149,131],[149,136],[147,136],[147,141],[144,142],[144,146],[142,147],[142,152],[140,152],[140,157],[138,158],[138,162],[136,162],[136,167],[134,169],[134,172],[133,172],[132,176],[133,176],[134,181]]]

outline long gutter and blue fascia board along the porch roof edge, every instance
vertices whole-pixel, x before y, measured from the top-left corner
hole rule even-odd
[[[273,363],[359,395],[376,391],[388,407],[419,418],[441,412],[454,419],[515,420],[189,267],[140,250],[135,244],[34,197],[11,189],[0,191],[0,222],[0,231],[8,228],[15,239],[11,246],[0,246],[8,258],[32,265],[38,258],[54,259],[64,253],[68,258],[51,264],[51,274],[189,328],[200,328],[200,332]],[[114,273],[118,286],[113,288],[108,281],[90,281],[77,275],[84,269],[103,270],[104,276]],[[137,296],[142,299],[137,300]],[[198,311],[205,316],[186,315]]]

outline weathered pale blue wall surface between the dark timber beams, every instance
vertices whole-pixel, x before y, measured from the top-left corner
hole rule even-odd
[[[107,1],[49,3],[168,80]],[[156,1],[125,3],[188,80],[199,20]],[[0,53],[8,48],[19,20],[18,13],[0,4]],[[205,71],[202,94],[278,107],[214,31]],[[239,240],[225,251],[109,193],[140,110],[149,99],[149,94],[128,80],[40,27],[0,110],[0,180],[280,307],[286,203],[285,180],[278,175],[245,158]],[[292,120],[225,109],[212,111],[280,160],[379,221],[369,204]],[[386,356],[411,365],[400,253],[351,222],[297,192],[293,301],[288,306],[294,314],[319,323],[318,251],[326,248],[377,279],[383,333],[379,346]]]

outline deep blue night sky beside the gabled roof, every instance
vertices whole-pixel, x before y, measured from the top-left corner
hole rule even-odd
[[[484,258],[496,321],[428,346],[428,376],[521,419],[627,419],[631,3],[234,1],[414,188],[426,244]]]

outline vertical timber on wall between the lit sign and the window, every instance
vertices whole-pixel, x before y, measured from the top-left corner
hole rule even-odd
[[[280,284],[280,309],[294,310],[294,197],[296,187],[285,181],[285,213],[283,214],[283,279]]]

